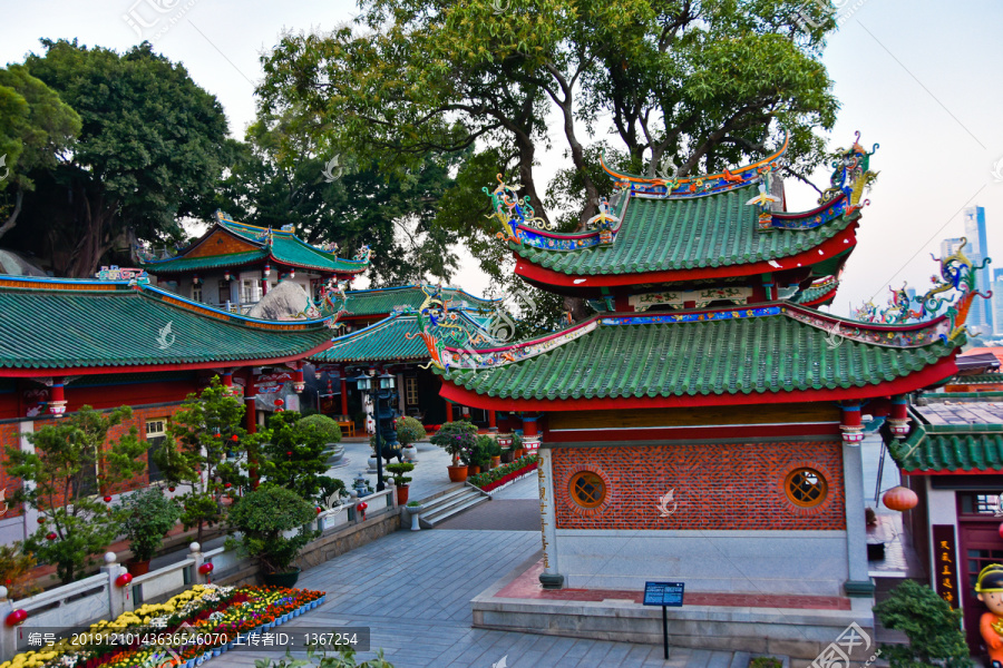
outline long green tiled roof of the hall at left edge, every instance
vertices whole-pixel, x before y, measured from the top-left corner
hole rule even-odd
[[[333,317],[270,322],[149,285],[0,278],[6,376],[213,369],[299,360],[330,345]]]

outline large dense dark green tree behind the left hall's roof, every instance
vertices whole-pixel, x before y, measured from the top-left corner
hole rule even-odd
[[[208,217],[226,137],[216,98],[148,42],[124,55],[76,40],[42,45],[26,67],[82,128],[58,167],[32,175],[22,214],[31,237],[21,245],[48,255],[57,274],[89,276],[127,230],[163,243],[181,237],[179,217]]]

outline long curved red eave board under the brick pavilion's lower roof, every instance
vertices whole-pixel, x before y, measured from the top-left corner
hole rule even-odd
[[[465,387],[457,387],[446,381],[439,395],[444,399],[477,409],[491,411],[613,411],[626,409],[689,409],[693,406],[734,406],[769,404],[777,401],[789,403],[817,401],[847,401],[853,399],[874,399],[892,394],[915,392],[921,387],[934,385],[957,373],[954,363],[955,352],[912,375],[895,379],[878,385],[849,387],[838,390],[795,390],[790,392],[761,392],[751,394],[697,394],[693,396],[626,396],[603,399],[501,399],[477,394]]]

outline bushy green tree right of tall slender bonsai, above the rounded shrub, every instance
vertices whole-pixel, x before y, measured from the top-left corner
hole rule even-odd
[[[312,501],[320,493],[323,473],[328,470],[325,446],[330,431],[311,415],[301,419],[296,413],[275,413],[269,420],[267,433],[262,433],[261,472],[272,484],[284,487]],[[338,429],[338,425],[334,425]],[[338,430],[341,439],[341,430]]]

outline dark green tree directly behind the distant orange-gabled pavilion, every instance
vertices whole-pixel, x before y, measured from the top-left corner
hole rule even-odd
[[[261,115],[246,143],[233,143],[220,208],[252,225],[291,224],[312,244],[340,244],[342,255],[367,244],[374,285],[448,282],[457,267],[452,239],[431,223],[460,156],[428,154],[409,173],[388,177],[325,146],[323,128],[308,131],[294,121]]]

